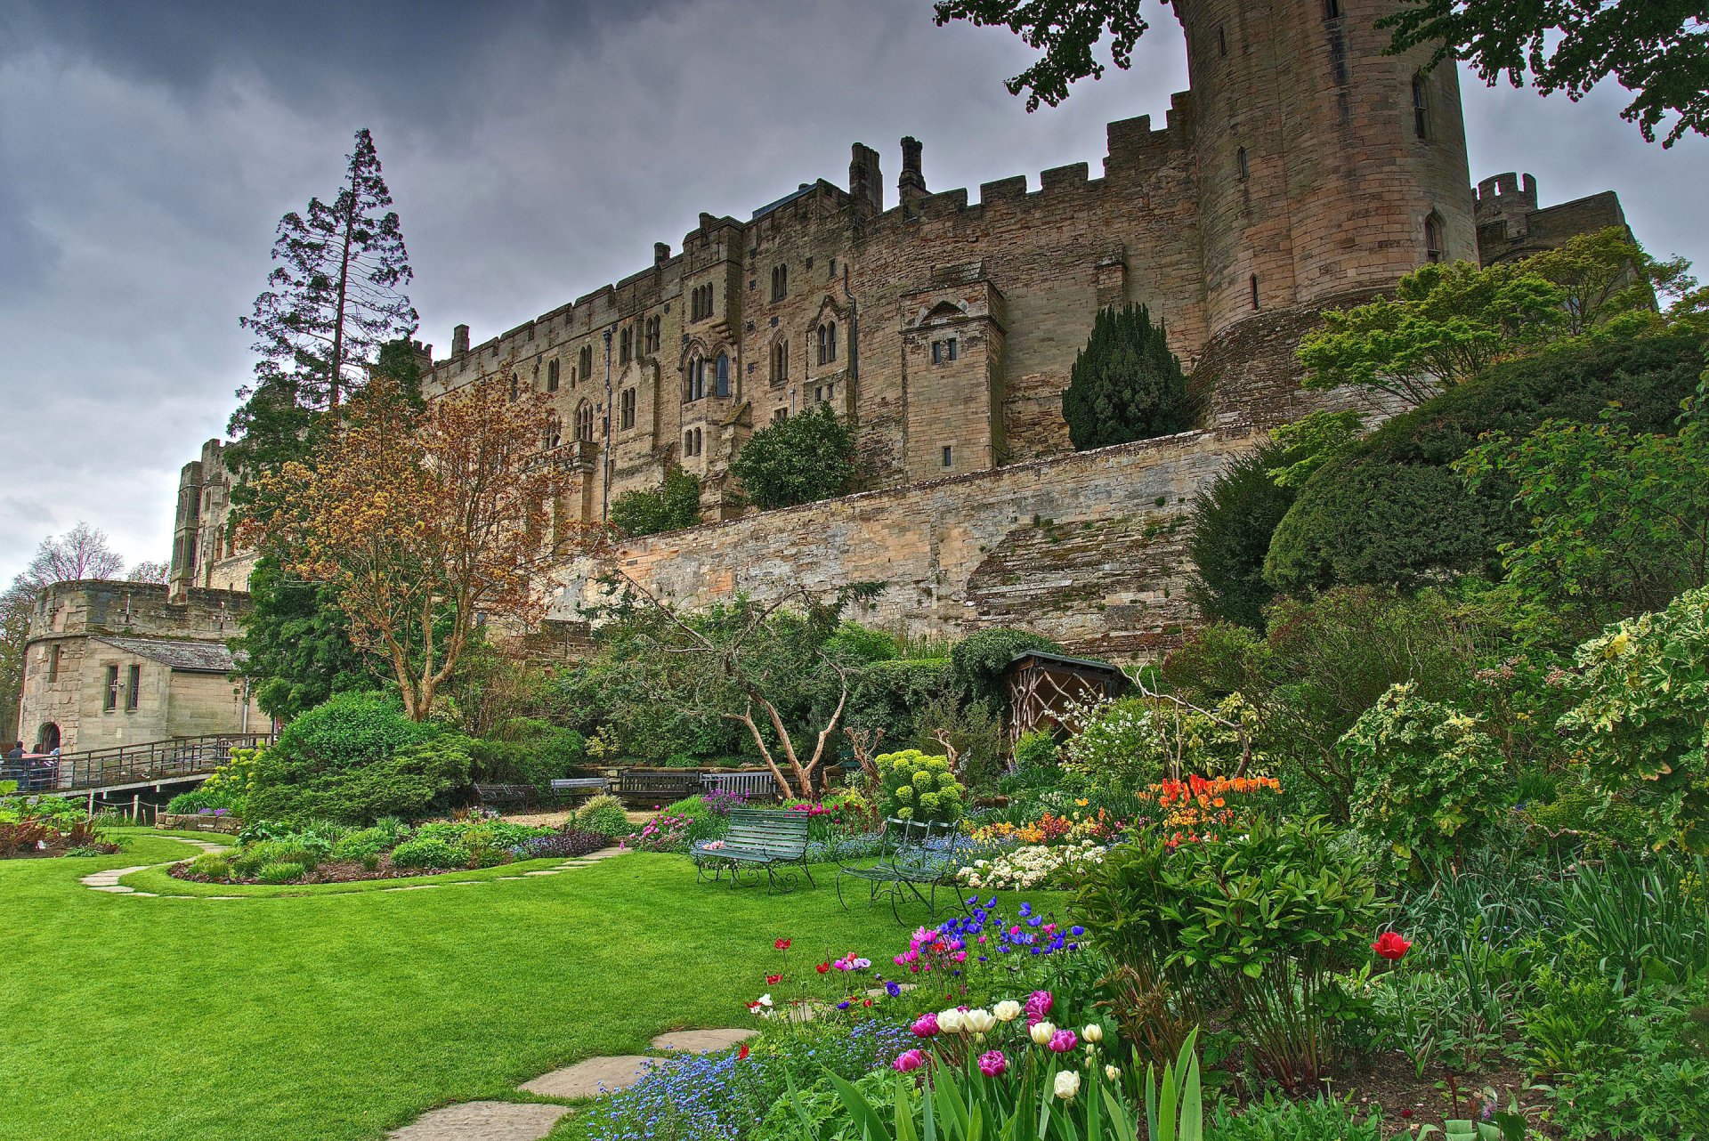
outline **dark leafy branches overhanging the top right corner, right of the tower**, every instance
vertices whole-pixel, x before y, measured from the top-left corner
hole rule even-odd
[[[1526,77],[1545,96],[1581,99],[1613,79],[1632,96],[1620,113],[1647,142],[1678,116],[1663,147],[1685,132],[1709,133],[1709,50],[1697,0],[1600,0],[1509,3],[1506,0],[1415,0],[1377,20],[1393,27],[1391,51],[1434,48],[1434,63],[1465,60],[1494,85]]]

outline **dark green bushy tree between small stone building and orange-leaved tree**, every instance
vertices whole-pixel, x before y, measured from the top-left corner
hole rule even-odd
[[[333,693],[379,687],[371,661],[350,646],[330,586],[287,576],[261,555],[250,574],[250,601],[231,647],[267,716],[291,721]]]

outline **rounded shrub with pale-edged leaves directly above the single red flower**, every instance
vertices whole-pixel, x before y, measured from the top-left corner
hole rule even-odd
[[[1495,740],[1413,682],[1359,714],[1338,746],[1354,770],[1354,823],[1417,869],[1480,842],[1509,808]]]

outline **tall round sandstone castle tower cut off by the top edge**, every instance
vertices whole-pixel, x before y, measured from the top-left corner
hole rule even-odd
[[[1393,0],[1176,0],[1186,31],[1208,360],[1232,391],[1309,313],[1477,261],[1459,80],[1384,55]],[[1251,325],[1258,318],[1256,325]],[[1219,347],[1222,352],[1219,352]],[[1270,354],[1273,355],[1273,354]],[[1220,400],[1215,415],[1229,415]]]

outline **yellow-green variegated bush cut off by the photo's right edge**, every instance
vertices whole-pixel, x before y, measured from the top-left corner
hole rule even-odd
[[[1560,726],[1606,808],[1637,806],[1656,846],[1709,851],[1709,591],[1610,627],[1577,664]]]

